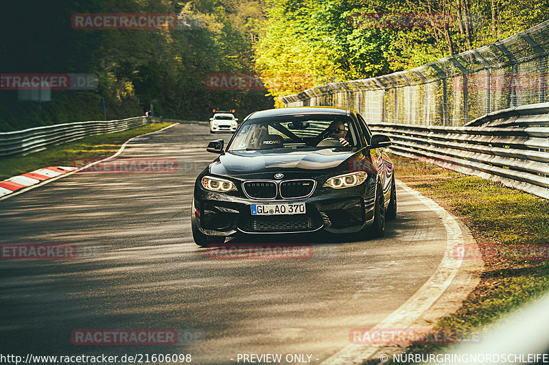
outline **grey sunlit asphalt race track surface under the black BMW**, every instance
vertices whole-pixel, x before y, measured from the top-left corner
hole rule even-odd
[[[382,239],[253,236],[244,242],[306,244],[312,255],[213,259],[191,237],[192,190],[216,157],[207,142],[230,136],[175,125],[118,156],[174,158],[174,171],[76,173],[0,201],[1,244],[77,249],[72,260],[0,261],[1,352],[191,354],[193,364],[281,353],[320,364],[349,345],[351,329],[394,312],[441,263],[444,225],[401,185],[397,219]],[[80,345],[71,341],[75,329],[175,329],[179,341]],[[306,362],[296,359],[281,364]]]

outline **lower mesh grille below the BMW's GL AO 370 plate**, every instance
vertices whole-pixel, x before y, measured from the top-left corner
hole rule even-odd
[[[238,227],[245,232],[299,232],[314,231],[322,227],[323,221],[309,214],[275,215],[275,216],[244,216]]]

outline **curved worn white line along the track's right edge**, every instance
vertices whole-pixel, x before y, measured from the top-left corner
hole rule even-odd
[[[456,244],[464,244],[463,234],[456,219],[446,212],[443,207],[432,199],[424,197],[416,190],[412,190],[403,182],[397,180],[400,188],[414,195],[421,203],[427,205],[430,210],[439,216],[447,232],[447,242],[444,257],[435,272],[417,292],[402,304],[395,312],[389,314],[384,320],[377,323],[372,329],[399,328],[405,329],[412,326],[421,315],[425,313],[441,297],[443,292],[452,284],[461,266],[461,260],[456,260],[452,255],[452,248]],[[360,326],[358,326],[360,327]],[[423,326],[425,327],[425,326]],[[348,344],[346,347],[331,355],[322,365],[336,364],[362,364],[368,360],[383,345],[375,344]]]

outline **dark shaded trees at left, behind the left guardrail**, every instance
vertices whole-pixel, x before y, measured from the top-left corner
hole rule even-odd
[[[261,21],[257,1],[38,0],[14,1],[1,25],[2,73],[95,73],[99,87],[54,91],[50,102],[18,101],[3,90],[0,131],[38,125],[144,114],[207,120],[212,108],[237,116],[272,108],[264,90],[219,91],[206,86],[211,73],[255,73],[250,33]],[[84,13],[171,13],[177,29],[73,29]],[[25,23],[21,23],[21,19]],[[8,36],[9,35],[9,36]]]

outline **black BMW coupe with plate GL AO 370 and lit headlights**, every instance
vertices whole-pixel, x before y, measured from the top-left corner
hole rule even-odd
[[[387,136],[371,134],[349,108],[301,107],[248,115],[194,186],[193,238],[199,246],[236,234],[320,229],[383,236],[397,214]]]

